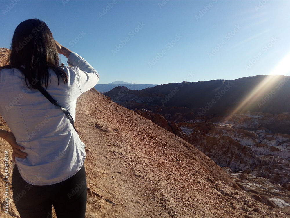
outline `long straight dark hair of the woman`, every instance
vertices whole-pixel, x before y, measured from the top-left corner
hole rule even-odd
[[[45,22],[29,19],[21,22],[15,29],[11,43],[10,65],[3,68],[20,68],[25,83],[33,88],[33,82],[40,81],[48,87],[51,68],[59,79],[68,82],[68,75],[59,67],[59,56],[52,33]]]

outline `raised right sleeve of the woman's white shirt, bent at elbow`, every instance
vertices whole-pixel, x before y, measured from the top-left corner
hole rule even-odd
[[[90,90],[98,83],[100,77],[97,71],[77,53],[70,53],[67,63],[73,66],[77,74],[81,93]]]

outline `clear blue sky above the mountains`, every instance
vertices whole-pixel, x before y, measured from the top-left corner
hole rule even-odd
[[[20,22],[44,20],[99,72],[99,84],[290,73],[289,0],[0,2],[0,47],[10,48]]]

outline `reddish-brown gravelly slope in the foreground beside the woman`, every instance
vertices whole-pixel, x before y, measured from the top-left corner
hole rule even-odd
[[[289,217],[253,199],[190,143],[94,89],[79,97],[75,124],[86,144],[87,218]],[[0,128],[8,129],[1,117]],[[0,140],[0,151],[10,155],[11,179],[12,149]],[[0,193],[1,217],[19,218],[10,183]]]

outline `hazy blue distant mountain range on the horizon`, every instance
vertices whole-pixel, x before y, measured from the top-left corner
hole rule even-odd
[[[95,85],[95,89],[98,90],[99,92],[104,93],[104,92],[108,92],[112,90],[113,88],[117,86],[125,86],[130,90],[142,90],[142,89],[154,87],[156,85],[157,84],[135,84],[135,83],[133,84],[133,83],[127,83],[123,81],[115,81],[109,84],[97,84]]]

